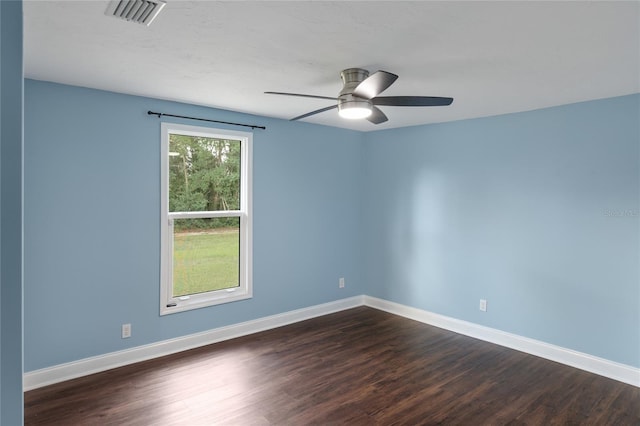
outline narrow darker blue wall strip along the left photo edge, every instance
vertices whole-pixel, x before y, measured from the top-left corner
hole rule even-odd
[[[22,2],[0,1],[0,424],[22,424]]]

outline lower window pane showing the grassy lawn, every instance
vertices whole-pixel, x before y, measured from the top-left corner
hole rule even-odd
[[[238,287],[240,218],[175,219],[173,295]]]

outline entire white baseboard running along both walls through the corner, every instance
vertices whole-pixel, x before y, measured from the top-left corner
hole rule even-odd
[[[24,374],[23,386],[24,390],[28,391],[363,305],[640,387],[640,369],[638,368],[370,296],[350,297],[202,333],[30,371]]]

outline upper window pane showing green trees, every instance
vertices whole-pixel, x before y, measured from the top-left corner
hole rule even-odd
[[[240,209],[239,140],[169,135],[169,211]]]

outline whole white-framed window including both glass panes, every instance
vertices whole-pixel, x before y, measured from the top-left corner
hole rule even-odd
[[[162,123],[161,315],[251,297],[251,145]]]

